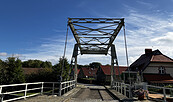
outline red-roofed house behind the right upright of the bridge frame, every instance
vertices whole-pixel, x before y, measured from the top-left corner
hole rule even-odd
[[[119,66],[119,71],[117,66],[114,67],[115,74],[116,74],[116,80],[120,80],[120,75],[123,73],[123,71],[126,71],[128,67],[126,66]],[[100,68],[97,71],[97,81],[98,82],[110,82],[111,81],[111,66],[110,65],[101,65]]]

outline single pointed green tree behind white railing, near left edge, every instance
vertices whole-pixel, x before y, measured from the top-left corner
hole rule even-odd
[[[6,74],[8,84],[25,82],[25,77],[22,70],[22,62],[14,57],[9,57],[6,60]]]

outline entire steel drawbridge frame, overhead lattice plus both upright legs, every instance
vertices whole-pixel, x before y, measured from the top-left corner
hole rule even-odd
[[[93,26],[95,24],[95,26]],[[103,25],[100,27],[100,25]],[[113,44],[115,38],[124,26],[124,18],[68,18],[68,26],[76,40],[71,59],[72,66],[75,66],[74,79],[77,82],[77,56],[80,54],[101,54],[107,55],[111,48],[111,86],[116,79],[115,71],[117,66],[119,75],[119,64]],[[91,27],[88,27],[91,26]],[[121,78],[121,77],[120,77]]]

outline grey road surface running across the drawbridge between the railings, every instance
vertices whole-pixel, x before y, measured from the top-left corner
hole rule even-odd
[[[17,102],[119,102],[112,97],[104,86],[92,84],[78,84],[76,88],[63,96],[40,95]],[[140,101],[137,101],[140,102]],[[145,102],[145,101],[142,101]],[[149,102],[147,100],[147,102]]]

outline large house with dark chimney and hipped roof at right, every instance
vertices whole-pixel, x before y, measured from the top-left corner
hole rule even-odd
[[[145,49],[145,54],[132,63],[129,69],[138,72],[141,81],[173,83],[173,59],[162,54],[159,50]]]

